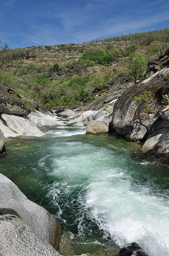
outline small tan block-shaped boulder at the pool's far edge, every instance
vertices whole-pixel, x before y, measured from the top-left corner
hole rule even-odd
[[[108,133],[109,132],[109,123],[93,120],[86,127],[87,134],[96,134],[96,133]]]

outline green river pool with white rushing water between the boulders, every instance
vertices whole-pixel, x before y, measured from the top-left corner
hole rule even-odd
[[[85,128],[44,128],[46,137],[6,142],[0,172],[64,226],[60,253],[116,255],[137,242],[169,256],[169,165],[136,143]]]

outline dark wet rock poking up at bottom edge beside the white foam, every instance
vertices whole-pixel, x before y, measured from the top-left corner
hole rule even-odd
[[[140,245],[132,242],[120,250],[117,256],[148,256]]]

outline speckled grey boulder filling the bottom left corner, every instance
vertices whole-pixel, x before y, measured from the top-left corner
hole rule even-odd
[[[0,215],[1,256],[60,256],[16,215]]]

